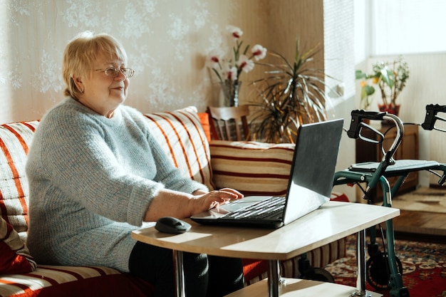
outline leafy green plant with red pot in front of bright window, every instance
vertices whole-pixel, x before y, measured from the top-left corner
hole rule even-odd
[[[405,88],[409,78],[409,66],[403,56],[399,56],[393,62],[379,61],[373,64],[372,73],[356,71],[356,79],[361,80],[361,108],[367,109],[372,100],[370,95],[375,93],[372,84],[378,85],[383,104],[378,103],[380,111],[387,111],[398,115],[400,104],[397,103],[398,95]]]

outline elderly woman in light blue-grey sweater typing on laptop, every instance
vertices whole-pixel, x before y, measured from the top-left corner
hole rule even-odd
[[[242,194],[209,192],[180,175],[142,114],[123,105],[133,74],[112,36],[84,32],[68,43],[67,98],[42,118],[28,155],[27,244],[38,263],[109,266],[152,283],[155,296],[175,296],[172,251],[137,242],[132,231]],[[243,286],[239,259],[184,259],[188,296],[224,296]]]

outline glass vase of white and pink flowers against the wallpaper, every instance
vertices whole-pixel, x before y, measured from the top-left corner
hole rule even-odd
[[[238,106],[239,88],[242,85],[239,80],[240,75],[242,72],[247,73],[254,68],[253,59],[259,61],[265,58],[266,48],[256,44],[247,56],[249,45],[242,48],[243,41],[240,40],[243,31],[236,26],[227,26],[227,31],[235,43],[232,47],[232,54],[229,58],[210,56],[207,59],[207,67],[211,68],[219,79],[224,95],[224,105]]]

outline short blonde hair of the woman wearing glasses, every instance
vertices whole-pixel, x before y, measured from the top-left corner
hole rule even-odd
[[[91,31],[81,32],[68,43],[63,52],[62,63],[62,76],[66,83],[64,95],[78,100],[81,90],[76,87],[73,77],[86,77],[100,55],[127,62],[127,53],[123,46],[113,36],[105,33],[95,35]]]

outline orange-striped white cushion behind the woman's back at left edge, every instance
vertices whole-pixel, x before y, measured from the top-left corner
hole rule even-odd
[[[0,214],[18,232],[28,229],[26,155],[38,121],[0,125]]]

